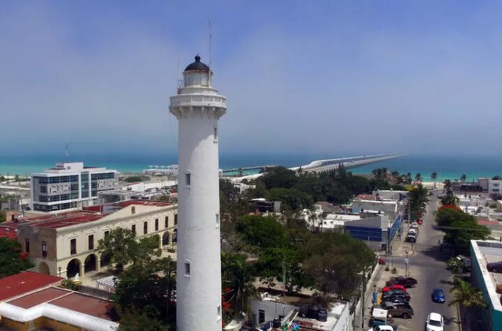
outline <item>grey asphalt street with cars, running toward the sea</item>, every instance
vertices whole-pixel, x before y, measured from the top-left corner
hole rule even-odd
[[[439,250],[438,240],[442,240],[443,233],[434,229],[434,210],[439,206],[436,197],[429,197],[427,213],[424,223],[419,227],[417,243],[413,254],[411,254],[411,244],[402,243],[402,249],[409,248],[409,276],[418,280],[418,286],[410,288],[410,305],[413,307],[415,315],[411,319],[395,318],[395,324],[399,325],[398,331],[424,330],[427,314],[436,312],[443,315],[445,320],[444,330],[459,330],[457,323],[457,306],[448,306],[451,300],[450,288],[452,286],[452,274],[446,270],[448,253]],[[404,224],[404,232],[407,224]],[[393,257],[393,263],[397,268],[404,269],[404,257]],[[432,302],[431,294],[433,288],[443,288],[446,294],[446,302],[439,304]]]

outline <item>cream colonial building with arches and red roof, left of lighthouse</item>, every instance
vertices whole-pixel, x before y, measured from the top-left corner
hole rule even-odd
[[[29,218],[17,224],[17,241],[38,272],[82,277],[109,265],[109,252],[96,248],[112,229],[131,229],[137,238],[158,236],[167,249],[176,245],[176,224],[176,205],[132,200]]]

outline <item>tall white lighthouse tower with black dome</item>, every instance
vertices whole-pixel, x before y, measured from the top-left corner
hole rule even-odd
[[[222,329],[218,119],[227,105],[212,75],[195,56],[169,105],[179,130],[178,331]]]

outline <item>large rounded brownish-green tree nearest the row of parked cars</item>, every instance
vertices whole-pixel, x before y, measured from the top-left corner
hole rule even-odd
[[[350,300],[358,288],[359,274],[374,265],[374,252],[360,240],[336,232],[312,236],[303,263],[314,287]]]

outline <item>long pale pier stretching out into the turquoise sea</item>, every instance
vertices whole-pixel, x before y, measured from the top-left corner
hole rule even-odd
[[[360,167],[365,164],[372,164],[376,162],[381,162],[385,160],[391,160],[395,159],[397,157],[401,157],[401,154],[379,154],[379,155],[364,155],[364,156],[354,156],[354,157],[338,157],[335,159],[328,159],[328,160],[316,160],[312,161],[309,164],[305,164],[301,167],[292,167],[289,168],[290,170],[294,171],[305,171],[305,172],[311,172],[311,173],[322,173],[326,171],[332,171],[335,169],[338,169],[340,165],[345,167],[346,169],[350,168],[355,168],[355,167]],[[275,166],[257,166],[257,167],[248,167],[248,168],[238,168],[238,169],[229,169],[225,170],[224,172],[230,172],[230,171],[239,171],[239,174],[242,174],[242,171],[245,169],[252,170],[252,169],[267,169]],[[258,178],[262,174],[252,174],[248,176],[238,176],[231,178],[231,181],[233,183],[240,183],[244,179],[252,180],[255,178]]]

